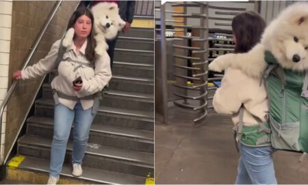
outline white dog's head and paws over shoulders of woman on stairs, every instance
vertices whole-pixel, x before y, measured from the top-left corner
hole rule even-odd
[[[118,5],[116,3],[102,2],[94,5],[92,8],[94,16],[94,39],[97,40],[95,52],[103,56],[108,49],[106,39],[115,38],[118,32],[125,26],[125,21],[118,14]],[[62,45],[68,47],[73,43],[75,29],[71,27],[66,32]]]

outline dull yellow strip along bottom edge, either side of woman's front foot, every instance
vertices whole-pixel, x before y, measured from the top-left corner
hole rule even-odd
[[[8,180],[14,180],[18,182],[25,182],[27,184],[47,184],[49,173],[38,173],[33,171],[27,171],[23,169],[9,169],[7,170]],[[88,184],[83,180],[73,179],[70,177],[60,176],[57,184]]]

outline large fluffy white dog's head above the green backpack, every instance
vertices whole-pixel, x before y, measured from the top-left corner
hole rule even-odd
[[[268,25],[264,45],[286,69],[308,69],[308,3],[294,3]]]

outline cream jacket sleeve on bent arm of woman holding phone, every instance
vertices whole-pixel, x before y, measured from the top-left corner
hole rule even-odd
[[[83,85],[79,93],[83,96],[93,95],[97,93],[109,83],[112,77],[110,68],[110,57],[107,52],[103,56],[99,56],[95,62],[94,77],[91,79],[83,79]]]

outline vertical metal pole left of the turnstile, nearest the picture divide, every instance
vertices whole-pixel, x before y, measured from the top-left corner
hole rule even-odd
[[[160,8],[160,22],[161,22],[161,42],[160,49],[162,53],[162,65],[160,66],[160,70],[162,71],[162,102],[163,102],[163,116],[164,123],[168,124],[168,84],[167,84],[167,53],[166,53],[166,12],[165,12],[166,3],[161,5]]]

